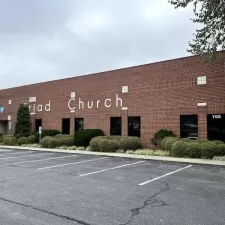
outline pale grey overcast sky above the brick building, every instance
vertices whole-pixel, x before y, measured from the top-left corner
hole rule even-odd
[[[188,56],[168,0],[0,0],[0,89]]]

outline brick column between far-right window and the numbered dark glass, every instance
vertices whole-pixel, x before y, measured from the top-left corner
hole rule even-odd
[[[198,112],[198,136],[200,139],[207,139],[207,110],[199,109]]]

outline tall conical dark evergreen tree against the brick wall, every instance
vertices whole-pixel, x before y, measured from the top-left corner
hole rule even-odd
[[[15,136],[26,137],[31,134],[31,118],[28,105],[20,104],[17,112]]]

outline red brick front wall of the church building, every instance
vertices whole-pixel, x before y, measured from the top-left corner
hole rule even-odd
[[[198,76],[207,76],[207,84],[197,86]],[[122,93],[122,86],[129,92]],[[76,109],[71,113],[67,103],[70,93],[76,92],[78,99],[100,100],[98,108]],[[116,107],[116,95],[123,100],[122,110]],[[58,81],[32,84],[0,91],[0,105],[5,106],[0,120],[10,114],[15,124],[16,112],[21,102],[28,102],[36,96],[37,103],[51,104],[50,112],[36,112],[41,118],[43,129],[61,130],[62,118],[71,118],[71,133],[74,131],[74,117],[84,118],[85,128],[100,128],[110,133],[110,117],[122,117],[122,134],[127,134],[127,117],[141,116],[141,138],[148,145],[153,133],[161,128],[180,133],[180,115],[199,115],[199,136],[207,137],[208,113],[225,113],[225,52],[216,62],[204,64],[200,57],[186,57],[165,62],[142,65],[93,75],[79,76]],[[105,99],[112,99],[112,106],[103,106]],[[12,104],[8,104],[8,100]],[[198,102],[206,102],[206,107],[198,107]],[[108,102],[109,103],[109,102]],[[71,104],[72,105],[72,104]]]

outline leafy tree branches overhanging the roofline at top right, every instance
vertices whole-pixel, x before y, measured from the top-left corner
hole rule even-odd
[[[185,8],[193,3],[196,18],[203,28],[197,29],[187,51],[194,55],[204,55],[207,61],[216,58],[216,52],[225,49],[225,0],[169,0],[175,8]]]

